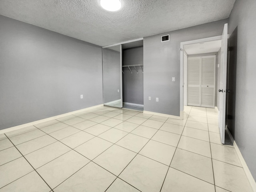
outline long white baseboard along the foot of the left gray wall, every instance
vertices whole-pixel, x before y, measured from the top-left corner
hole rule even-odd
[[[43,122],[46,122],[46,121],[54,120],[54,119],[64,117],[64,116],[67,116],[67,115],[72,115],[74,113],[79,113],[79,112],[83,112],[83,111],[86,111],[86,110],[98,108],[98,107],[101,107],[101,106],[103,106],[103,104],[88,107],[88,108],[84,108],[84,109],[80,109],[80,110],[76,110],[76,111],[72,111],[72,112],[68,112],[68,113],[65,113],[65,114],[60,114],[60,115],[57,115],[57,116],[53,116],[53,117],[49,117],[49,118],[45,118],[45,119],[41,119],[41,120],[37,120],[37,121],[33,121],[33,122],[29,122],[29,123],[22,124],[22,125],[17,125],[17,126],[6,128],[6,129],[2,129],[2,130],[0,130],[0,134],[4,134],[4,133],[11,132],[11,131],[14,131],[14,130],[22,129],[22,128],[32,126],[32,125],[35,125],[35,124],[39,124],[39,123],[43,123]]]

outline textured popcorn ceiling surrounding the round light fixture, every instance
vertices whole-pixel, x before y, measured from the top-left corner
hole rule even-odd
[[[235,0],[0,0],[0,15],[100,46],[228,18]]]

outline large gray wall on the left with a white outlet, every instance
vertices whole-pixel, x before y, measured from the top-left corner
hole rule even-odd
[[[0,129],[103,103],[101,47],[4,16],[0,26]]]

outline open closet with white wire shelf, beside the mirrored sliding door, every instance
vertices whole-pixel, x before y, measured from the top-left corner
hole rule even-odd
[[[123,108],[144,110],[143,40],[122,44]]]

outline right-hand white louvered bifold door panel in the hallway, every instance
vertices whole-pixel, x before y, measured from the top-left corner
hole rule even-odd
[[[201,106],[214,108],[215,105],[215,55],[202,56]]]

